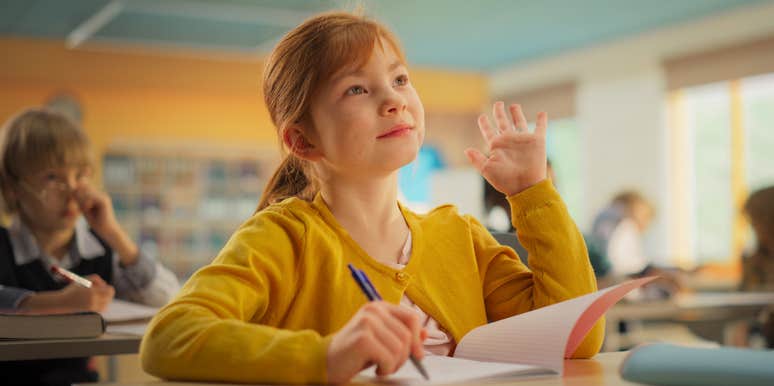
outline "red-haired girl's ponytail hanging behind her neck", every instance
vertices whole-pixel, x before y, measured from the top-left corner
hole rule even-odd
[[[311,165],[293,154],[288,154],[266,184],[256,212],[289,197],[312,201],[319,187],[310,178]]]

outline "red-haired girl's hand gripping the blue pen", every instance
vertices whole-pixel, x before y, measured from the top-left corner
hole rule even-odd
[[[424,356],[426,336],[416,312],[387,302],[370,302],[328,346],[328,382],[347,382],[371,364],[376,364],[377,375],[392,374],[409,353],[418,359]]]

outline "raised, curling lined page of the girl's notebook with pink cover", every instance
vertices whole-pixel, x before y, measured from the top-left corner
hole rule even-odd
[[[487,362],[536,365],[561,375],[571,333],[574,332],[574,351],[607,308],[627,292],[652,279],[630,280],[475,328],[462,338],[454,356]],[[596,303],[600,299],[603,301]],[[589,316],[581,318],[595,304],[597,307],[591,309]],[[576,323],[579,320],[582,323]]]

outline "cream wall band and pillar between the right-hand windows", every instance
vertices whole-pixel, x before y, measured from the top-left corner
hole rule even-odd
[[[584,213],[588,229],[609,198],[638,188],[659,211],[648,253],[669,260],[669,160],[665,58],[702,52],[774,33],[774,3],[738,8],[558,56],[505,68],[490,76],[493,95],[575,81],[584,163]]]

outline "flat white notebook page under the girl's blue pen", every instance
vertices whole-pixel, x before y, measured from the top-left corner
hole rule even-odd
[[[422,359],[430,380],[422,378],[410,361],[394,374],[379,378],[376,367],[370,367],[358,375],[353,382],[383,383],[395,385],[434,385],[450,384],[485,379],[526,377],[530,375],[548,375],[546,369],[535,366],[510,363],[477,362],[467,359],[450,358],[440,355],[427,355]]]

